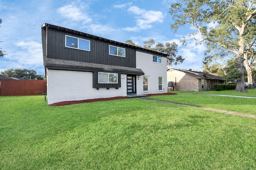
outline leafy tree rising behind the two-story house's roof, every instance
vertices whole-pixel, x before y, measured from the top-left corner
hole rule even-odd
[[[126,40],[125,43],[134,45],[137,47],[141,47],[140,45],[135,44],[132,40]],[[178,44],[176,44],[175,42],[172,42],[172,43],[167,42],[165,43],[165,45],[162,43],[157,43],[155,45],[154,39],[149,39],[148,41],[143,42],[143,48],[168,54],[167,56],[168,66],[183,63],[183,61],[185,60],[181,55],[178,55]]]

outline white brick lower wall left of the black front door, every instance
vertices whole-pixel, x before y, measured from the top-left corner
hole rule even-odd
[[[121,74],[121,88],[92,88],[92,72],[48,70],[48,104],[57,102],[126,96],[126,74]]]

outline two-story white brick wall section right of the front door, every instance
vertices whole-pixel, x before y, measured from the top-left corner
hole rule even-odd
[[[156,55],[157,56],[157,55]],[[143,91],[143,76],[136,78],[137,94],[167,93],[167,59],[162,57],[162,63],[153,62],[153,55],[136,51],[136,68],[140,68],[148,76],[148,92]],[[158,77],[162,77],[163,90],[158,90]]]

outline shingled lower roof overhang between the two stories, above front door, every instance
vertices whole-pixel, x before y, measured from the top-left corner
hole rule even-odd
[[[104,72],[118,72],[121,74],[144,75],[144,72],[139,68],[85,63],[85,62],[69,61],[69,60],[61,60],[61,59],[51,59],[47,57],[44,57],[44,66],[46,68],[58,69],[58,70],[96,71],[96,72],[101,70]]]

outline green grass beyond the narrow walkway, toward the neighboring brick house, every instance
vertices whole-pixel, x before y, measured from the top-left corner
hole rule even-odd
[[[254,90],[248,89],[248,93],[238,93],[238,92],[235,92],[234,90],[224,90],[220,92],[206,91],[206,92],[192,92],[192,93],[256,97],[255,89]],[[253,99],[253,98],[235,98],[235,97],[206,96],[206,95],[204,96],[204,95],[191,95],[191,94],[152,96],[150,98],[164,100],[168,102],[180,103],[180,104],[188,104],[192,106],[209,107],[213,109],[221,109],[226,111],[234,111],[238,113],[256,115],[256,107],[255,107],[256,99]]]

